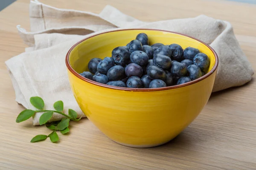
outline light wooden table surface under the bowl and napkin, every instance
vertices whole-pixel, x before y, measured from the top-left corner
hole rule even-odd
[[[213,0],[41,0],[50,6],[99,13],[110,4],[143,21],[206,14],[233,24],[241,48],[256,68],[256,5]],[[30,143],[45,127],[15,123],[23,110],[5,61],[24,52],[16,25],[29,31],[29,0],[0,12],[1,170],[256,170],[256,76],[247,85],[212,94],[204,110],[171,142],[153,148],[125,147],[88,119],[71,123],[61,142]]]

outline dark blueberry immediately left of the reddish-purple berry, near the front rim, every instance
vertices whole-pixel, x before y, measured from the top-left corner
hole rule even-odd
[[[125,77],[125,69],[121,65],[115,65],[108,70],[107,77],[110,82],[121,80]]]

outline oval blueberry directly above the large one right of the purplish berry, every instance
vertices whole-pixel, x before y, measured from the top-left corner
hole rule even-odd
[[[157,54],[153,58],[153,63],[154,65],[162,68],[163,70],[168,70],[172,65],[172,60],[168,56]]]

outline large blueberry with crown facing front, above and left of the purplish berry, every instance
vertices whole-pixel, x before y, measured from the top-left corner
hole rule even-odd
[[[130,59],[130,53],[124,47],[116,47],[112,51],[112,58],[114,59],[116,65],[125,66]]]

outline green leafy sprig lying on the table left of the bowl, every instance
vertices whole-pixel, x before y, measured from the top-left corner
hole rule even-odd
[[[77,113],[72,109],[68,110],[68,115],[63,113],[64,104],[61,100],[53,104],[55,111],[44,110],[44,100],[41,97],[31,97],[29,101],[38,110],[33,111],[30,109],[26,109],[20,112],[20,114],[17,116],[16,122],[23,122],[34,116],[35,113],[44,112],[39,118],[39,124],[45,125],[48,129],[53,130],[52,133],[50,133],[49,135],[37,135],[33,137],[30,142],[43,141],[48,137],[52,142],[57,142],[59,140],[58,134],[56,133],[57,131],[60,131],[62,134],[66,134],[70,131],[70,129],[68,128],[70,120],[77,122],[81,119],[81,117],[77,119]],[[65,118],[61,119],[61,121],[49,123],[48,121],[52,118],[53,113],[59,113],[65,116]]]

